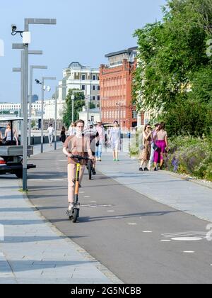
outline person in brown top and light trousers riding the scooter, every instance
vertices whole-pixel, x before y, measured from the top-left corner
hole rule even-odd
[[[90,150],[90,140],[83,134],[85,123],[83,120],[78,120],[75,123],[76,126],[76,134],[75,136],[69,136],[66,138],[64,143],[63,153],[68,157],[68,201],[69,201],[69,211],[73,208],[74,201],[74,185],[76,178],[76,163],[77,160],[72,158],[72,155],[81,155],[84,158],[94,159],[92,155],[92,151]],[[85,171],[86,161],[81,161],[81,173],[79,183],[81,184],[83,180],[83,174]]]

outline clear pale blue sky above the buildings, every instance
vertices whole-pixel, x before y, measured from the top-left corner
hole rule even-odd
[[[3,3],[2,3],[3,2]],[[47,65],[48,70],[35,70],[35,78],[62,78],[62,70],[78,61],[91,67],[107,63],[105,54],[136,45],[133,33],[146,23],[162,18],[165,0],[19,0],[3,1],[0,6],[0,41],[4,40],[4,57],[0,57],[0,102],[20,102],[20,35],[11,35],[11,24],[23,30],[24,18],[57,18],[57,26],[30,26],[30,50],[43,50],[44,55],[31,55],[29,65]],[[55,82],[48,84],[54,90]],[[40,88],[33,85],[40,96]],[[50,97],[52,93],[46,94]]]

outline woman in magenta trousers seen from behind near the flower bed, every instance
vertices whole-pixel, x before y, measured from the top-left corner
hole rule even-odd
[[[154,164],[155,164],[155,171],[158,170],[158,164],[160,165],[159,170],[163,168],[163,160],[164,160],[164,153],[165,148],[168,150],[168,140],[167,140],[167,132],[165,131],[165,123],[160,123],[160,127],[158,132],[155,135],[155,145],[158,147],[155,150],[154,155]]]

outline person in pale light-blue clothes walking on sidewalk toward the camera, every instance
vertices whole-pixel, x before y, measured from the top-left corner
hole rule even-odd
[[[109,142],[112,145],[113,161],[118,162],[121,143],[121,130],[118,121],[114,121],[114,127],[110,130]]]

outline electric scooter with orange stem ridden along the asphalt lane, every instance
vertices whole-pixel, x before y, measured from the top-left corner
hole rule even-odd
[[[73,208],[71,208],[71,211],[67,211],[67,215],[69,216],[69,219],[73,221],[73,223],[76,223],[76,221],[79,218],[79,211],[80,211],[80,203],[78,202],[78,192],[79,192],[79,177],[80,177],[80,171],[81,171],[81,160],[90,160],[90,158],[83,158],[81,155],[71,155],[71,158],[76,159],[76,180],[75,180],[75,190],[74,190],[74,202],[73,202]]]

